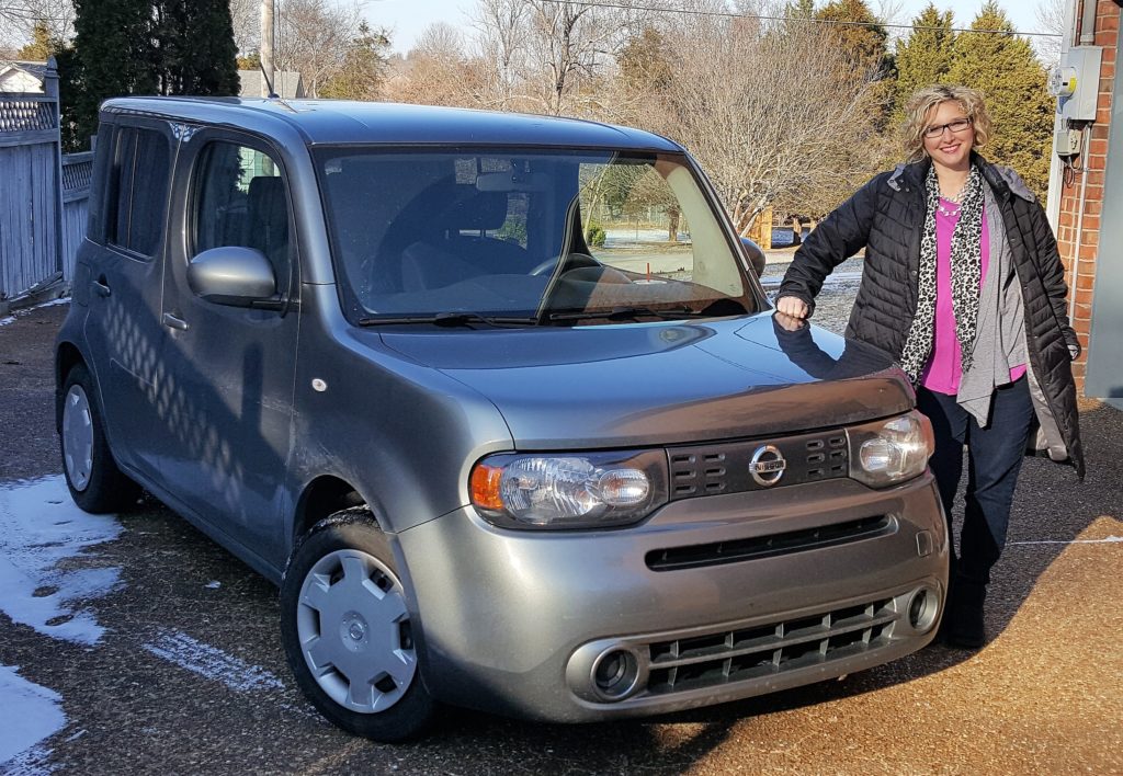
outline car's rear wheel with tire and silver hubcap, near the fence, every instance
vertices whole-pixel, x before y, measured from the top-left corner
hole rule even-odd
[[[74,503],[93,513],[121,512],[136,504],[140,489],[117,468],[98,391],[82,364],[66,375],[60,420],[63,473]]]

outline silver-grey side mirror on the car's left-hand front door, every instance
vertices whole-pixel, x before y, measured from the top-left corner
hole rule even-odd
[[[254,248],[222,246],[188,262],[188,285],[197,296],[230,307],[268,307],[277,293],[273,265]]]

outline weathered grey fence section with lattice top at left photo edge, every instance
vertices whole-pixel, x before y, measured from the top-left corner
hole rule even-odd
[[[0,93],[0,313],[65,287],[58,75],[45,93]]]

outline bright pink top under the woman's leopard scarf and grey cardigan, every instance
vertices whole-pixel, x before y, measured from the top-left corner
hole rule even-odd
[[[959,381],[964,376],[962,353],[956,337],[956,312],[951,304],[951,235],[959,221],[959,206],[940,198],[940,204],[950,216],[935,211],[935,336],[932,356],[921,374],[921,385],[929,391],[956,395]],[[990,239],[986,217],[983,218],[982,266],[979,286],[986,281],[987,265],[990,263]],[[1025,364],[1010,371],[1010,382],[1025,374]]]

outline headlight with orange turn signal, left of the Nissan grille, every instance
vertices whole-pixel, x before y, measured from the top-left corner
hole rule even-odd
[[[666,503],[666,454],[504,453],[472,468],[469,492],[476,510],[505,528],[626,526]]]

